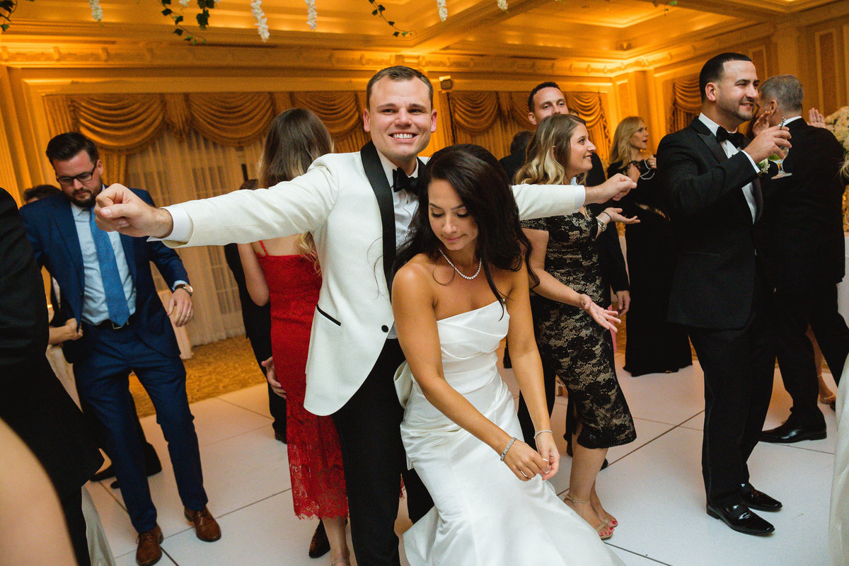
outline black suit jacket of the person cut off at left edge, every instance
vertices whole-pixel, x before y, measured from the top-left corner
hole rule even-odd
[[[60,498],[79,493],[103,458],[50,369],[41,273],[18,207],[0,188],[0,418],[42,462]]]

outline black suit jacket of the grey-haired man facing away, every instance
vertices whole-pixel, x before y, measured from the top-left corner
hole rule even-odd
[[[784,170],[793,175],[770,179],[771,171],[762,180],[765,257],[780,291],[802,293],[844,275],[843,148],[801,118],[787,127],[793,149]]]

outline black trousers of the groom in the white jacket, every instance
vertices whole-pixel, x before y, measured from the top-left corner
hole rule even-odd
[[[396,339],[387,339],[363,385],[333,417],[351,514],[351,541],[360,566],[398,566],[395,519],[401,477],[413,523],[433,507],[418,474],[407,469],[401,441],[404,410],[392,376],[404,361]]]

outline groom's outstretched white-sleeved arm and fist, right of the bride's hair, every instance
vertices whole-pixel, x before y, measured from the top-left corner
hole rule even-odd
[[[583,205],[619,200],[636,187],[625,175],[616,174],[598,187],[581,185],[514,185],[513,196],[522,220],[545,216],[565,216]]]

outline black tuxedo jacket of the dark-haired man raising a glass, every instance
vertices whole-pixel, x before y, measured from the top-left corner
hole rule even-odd
[[[698,118],[661,140],[657,171],[678,248],[669,321],[741,328],[757,269],[755,227],[741,189],[752,182],[760,200],[757,171],[742,151],[726,157]]]

